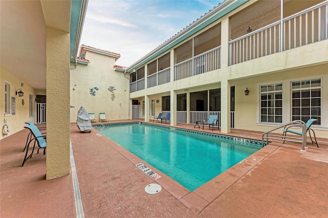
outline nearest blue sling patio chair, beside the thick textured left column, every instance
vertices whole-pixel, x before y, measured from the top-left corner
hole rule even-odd
[[[46,154],[46,146],[47,146],[47,143],[45,141],[46,136],[42,135],[42,133],[40,133],[39,129],[35,125],[25,126],[24,128],[29,129],[31,131],[33,137],[31,137],[31,139],[29,140],[29,142],[27,144],[26,154],[25,154],[22,166],[24,166],[24,163],[27,159],[32,158],[34,148],[35,148],[35,143],[37,143],[37,146],[39,147],[37,149],[37,153],[39,153],[40,149],[43,149],[43,155]],[[27,156],[31,142],[33,142],[33,149],[32,149],[31,154],[29,156]]]

